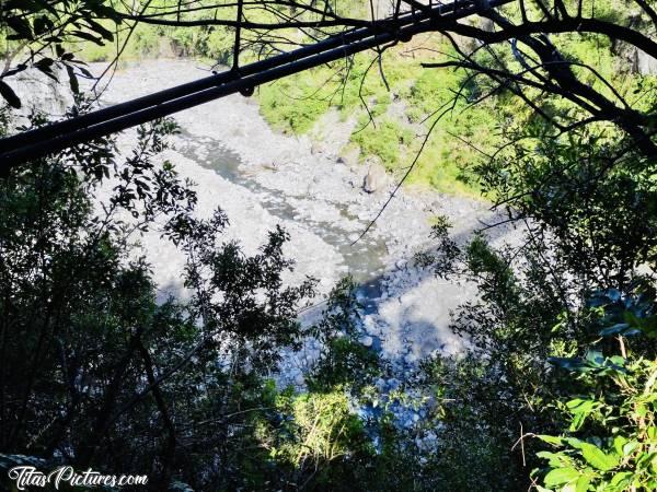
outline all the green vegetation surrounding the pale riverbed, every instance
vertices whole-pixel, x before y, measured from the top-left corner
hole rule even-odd
[[[28,63],[62,63],[76,89],[81,42],[131,33],[151,50],[163,35],[233,62],[237,25],[250,30],[237,38],[242,61],[362,25],[364,5],[320,3],[256,2],[238,17],[241,2],[204,0],[177,16],[164,0],[137,12],[5,2],[1,94],[20,105],[5,80]],[[495,247],[484,232],[457,244],[436,219],[437,251],[417,261],[476,285],[451,326],[469,350],[423,361],[387,395],[376,385],[384,361],[358,342],[354,284],[341,282],[321,320],[301,327],[313,281],[284,284],[285,231],[247,257],[222,241],[220,210],[197,219],[193,184],[159,162],[171,121],[140,128],[127,156],[105,138],[10,169],[0,468],[148,472],[152,490],[655,490],[656,82],[627,57],[657,58],[656,19],[643,1],[512,2],[485,12],[488,25],[440,24],[442,37],[261,87],[263,114],[287,131],[361,107],[350,144],[364,157],[395,172],[422,149],[416,181],[480,189],[523,227],[516,245]],[[441,52],[420,69],[407,57],[420,48]],[[88,109],[81,96],[78,106]],[[10,116],[0,120],[7,131]],[[187,301],[155,302],[134,244],[162,221],[186,258]],[[322,352],[306,387],[277,386],[281,352],[309,337]],[[422,419],[400,425],[400,405]]]

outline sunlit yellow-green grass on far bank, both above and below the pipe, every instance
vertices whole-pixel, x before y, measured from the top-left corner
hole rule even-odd
[[[163,37],[177,52],[223,63],[230,62],[232,56],[233,38],[228,28],[176,30],[142,25],[134,33],[124,58],[157,56]],[[606,78],[618,77],[609,42],[590,36],[563,35],[560,43],[565,43],[573,59],[601,67],[600,73]],[[420,56],[423,61],[431,61],[434,51],[441,51],[443,55],[439,57],[443,59],[451,49],[440,37],[418,36],[408,45],[387,50],[380,65],[370,51],[356,55],[348,61],[307,70],[258,87],[256,97],[261,113],[277,130],[302,134],[311,132],[330,108],[336,108],[342,118],[356,118],[358,121],[350,144],[360,148],[360,161],[373,155],[389,172],[401,174],[411,165],[423,134],[436,122],[437,115],[449,108],[436,122],[407,183],[447,194],[479,196],[479,184],[469,169],[485,159],[484,154],[499,142],[498,128],[507,125],[519,112],[526,112],[528,117],[530,115],[517,99],[504,94],[470,106],[487,89],[480,86],[477,79],[468,81],[462,71],[423,69],[413,52],[419,48],[428,49]],[[79,57],[101,61],[111,59],[115,51],[115,46],[99,47],[88,43],[81,46]],[[516,62],[510,52],[502,54],[502,57],[511,66]],[[243,62],[254,58],[254,54],[245,54]],[[595,74],[586,74],[585,80],[601,89],[601,82]],[[629,93],[635,84],[626,85]],[[457,92],[462,97],[451,107]],[[403,114],[389,110],[393,101],[401,102]],[[560,109],[563,108],[555,105],[555,110]],[[376,125],[365,126],[370,115]]]

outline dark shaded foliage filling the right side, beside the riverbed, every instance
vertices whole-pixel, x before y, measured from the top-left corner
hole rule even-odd
[[[447,235],[449,224],[439,221],[441,251],[420,258],[433,261],[438,274],[466,278],[479,288],[479,298],[453,316],[452,329],[472,343],[470,353],[427,363],[419,386],[436,399],[436,426],[447,436],[439,449],[451,456],[452,467],[505,469],[503,483],[486,479],[496,483],[489,490],[529,487],[527,469],[541,466],[534,452],[542,445],[526,440],[520,449],[517,442],[525,432],[555,435],[572,424],[555,402],[596,394],[609,396],[610,414],[623,411],[609,382],[591,387],[591,379],[573,378],[554,365],[600,379],[625,374],[623,356],[607,355],[618,352],[614,340],[588,348],[598,336],[621,336],[622,350],[655,356],[647,338],[654,331],[649,298],[657,247],[653,163],[629,151],[619,136],[602,140],[583,131],[560,138],[534,130],[519,130],[515,143],[477,169],[509,220],[523,225],[521,242],[494,248],[480,234],[459,247]],[[634,294],[637,289],[644,294]],[[610,435],[612,425],[601,421],[592,435]],[[566,483],[575,482],[558,484]]]

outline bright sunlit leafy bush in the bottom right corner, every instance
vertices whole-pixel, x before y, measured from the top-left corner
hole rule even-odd
[[[567,432],[538,436],[556,449],[538,453],[548,467],[534,470],[542,483],[537,489],[652,491],[657,489],[657,360],[654,348],[653,359],[629,353],[625,337],[654,338],[656,306],[641,297],[621,300],[618,291],[595,302],[604,303],[603,321],[612,323],[600,333],[616,338],[621,354],[606,358],[589,350],[584,359],[553,360],[584,385],[584,391],[558,403]]]

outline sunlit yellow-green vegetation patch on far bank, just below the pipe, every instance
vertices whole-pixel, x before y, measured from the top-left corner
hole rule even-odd
[[[422,46],[427,51],[449,50],[445,40],[431,37]],[[408,183],[479,197],[479,184],[469,169],[472,162],[481,159],[476,149],[488,149],[498,141],[498,119],[491,113],[492,105],[468,107],[465,99],[452,107],[453,94],[465,72],[423,69],[407,58],[406,51],[413,49],[416,48],[411,46],[385,52],[384,79],[372,69],[371,55],[357,55],[346,68],[323,67],[265,85],[258,96],[262,114],[276,128],[293,133],[321,125],[321,116],[331,108],[343,118],[357,114],[350,141],[360,148],[361,161],[374,156],[396,175],[413,162],[423,137],[433,126]],[[476,92],[476,86],[470,90]],[[474,99],[471,93],[468,97]],[[504,98],[495,102],[502,103],[496,110],[511,112],[503,102]],[[401,112],[391,113],[392,104]]]

